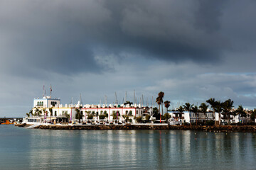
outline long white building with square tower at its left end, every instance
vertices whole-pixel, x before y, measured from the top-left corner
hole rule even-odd
[[[50,109],[52,113],[50,113]],[[51,98],[50,96],[44,96],[43,98],[35,98],[33,101],[32,114],[29,117],[24,118],[24,122],[28,124],[33,123],[68,123],[74,121],[78,111],[82,114],[82,121],[88,121],[88,115],[92,115],[92,120],[100,120],[100,115],[106,115],[105,121],[114,121],[125,119],[132,120],[134,122],[134,117],[145,115],[151,115],[151,109],[148,107],[142,107],[140,104],[134,105],[90,105],[86,104],[82,106],[80,101],[78,104],[65,104],[63,106],[60,104],[60,99]]]

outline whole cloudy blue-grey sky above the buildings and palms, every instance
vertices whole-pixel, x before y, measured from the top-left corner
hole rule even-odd
[[[0,0],[0,118],[33,98],[122,103],[159,91],[256,108],[256,1]]]

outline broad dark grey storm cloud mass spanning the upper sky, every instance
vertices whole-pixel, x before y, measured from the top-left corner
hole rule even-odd
[[[119,60],[123,52],[152,60],[216,63],[233,47],[233,34],[223,31],[223,24],[234,13],[233,4],[201,0],[1,1],[1,70],[29,76],[43,70],[102,72],[108,67],[95,56],[115,55]],[[239,30],[234,27],[233,32]]]

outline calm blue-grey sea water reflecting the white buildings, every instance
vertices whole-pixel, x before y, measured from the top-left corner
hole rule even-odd
[[[0,125],[0,169],[256,169],[256,135]]]

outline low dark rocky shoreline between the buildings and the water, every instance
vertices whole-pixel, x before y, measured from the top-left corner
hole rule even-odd
[[[26,127],[26,124],[16,125]],[[256,126],[189,126],[189,125],[39,125],[44,130],[199,130],[206,132],[256,132]]]

